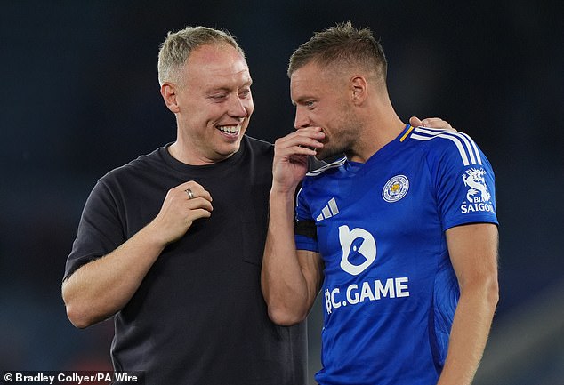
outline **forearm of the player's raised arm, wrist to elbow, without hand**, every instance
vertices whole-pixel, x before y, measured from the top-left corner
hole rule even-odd
[[[315,300],[316,289],[310,285],[295,250],[294,194],[271,191],[269,229],[262,260],[262,293],[270,318],[280,325],[302,321]]]

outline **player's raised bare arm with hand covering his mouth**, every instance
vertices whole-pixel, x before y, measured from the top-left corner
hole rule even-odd
[[[323,133],[304,128],[275,144],[270,220],[262,259],[262,293],[269,316],[279,325],[294,325],[307,317],[323,280],[318,253],[296,251],[294,192],[307,172],[307,156],[320,148]]]

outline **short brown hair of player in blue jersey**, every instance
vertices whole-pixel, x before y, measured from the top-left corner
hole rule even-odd
[[[288,77],[310,62],[322,68],[361,67],[375,71],[384,81],[387,61],[382,45],[369,28],[357,29],[350,21],[316,32],[290,57]]]

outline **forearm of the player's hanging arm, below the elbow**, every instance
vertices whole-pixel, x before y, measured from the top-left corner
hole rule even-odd
[[[463,288],[438,385],[470,385],[486,347],[498,299],[495,279]]]

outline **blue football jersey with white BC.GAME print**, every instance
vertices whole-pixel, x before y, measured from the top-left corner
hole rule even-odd
[[[296,210],[297,248],[325,262],[318,383],[435,384],[459,297],[445,231],[497,224],[486,156],[461,132],[408,125],[366,164],[308,173]]]

